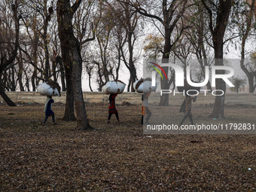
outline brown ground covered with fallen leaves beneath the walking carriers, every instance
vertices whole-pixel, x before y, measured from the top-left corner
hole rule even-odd
[[[212,109],[197,108],[203,113],[194,110],[194,120],[209,122]],[[87,104],[96,129],[81,131],[60,120],[62,104],[53,105],[58,124],[49,118],[46,126],[44,105],[0,105],[0,190],[256,191],[255,135],[148,136],[140,105],[117,109],[122,122],[112,116],[108,124],[107,104]],[[228,120],[255,120],[256,108],[239,109],[227,107]],[[178,123],[182,114],[172,117]]]

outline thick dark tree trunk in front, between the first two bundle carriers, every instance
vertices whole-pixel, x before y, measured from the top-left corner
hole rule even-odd
[[[57,2],[57,17],[59,40],[62,47],[62,59],[72,68],[72,88],[74,94],[75,111],[77,114],[77,128],[78,130],[88,130],[91,128],[87,120],[87,112],[85,110],[83,92],[81,87],[81,73],[82,73],[82,57],[81,45],[74,35],[72,19],[75,11],[81,4],[81,0],[76,1],[73,5],[69,0],[58,0]],[[71,62],[65,56],[69,56]],[[67,75],[67,72],[66,72]],[[70,80],[70,79],[69,79]],[[67,87],[68,88],[68,87]],[[70,87],[69,87],[70,88]],[[67,104],[66,104],[67,105]]]

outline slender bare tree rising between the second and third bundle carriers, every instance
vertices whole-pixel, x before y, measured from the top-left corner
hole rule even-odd
[[[114,36],[117,38],[117,58],[120,56],[123,59],[123,63],[130,72],[130,80],[127,90],[134,92],[133,86],[130,86],[135,82],[137,78],[136,73],[136,56],[134,54],[134,47],[137,40],[136,29],[139,28],[139,15],[137,11],[129,5],[129,0],[122,1],[106,1],[110,8],[115,20]],[[123,35],[124,34],[124,35]],[[126,47],[126,50],[125,50]],[[120,59],[118,60],[118,63]]]

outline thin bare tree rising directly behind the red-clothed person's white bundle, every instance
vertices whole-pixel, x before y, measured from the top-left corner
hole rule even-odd
[[[124,44],[120,18],[117,17],[116,11],[113,11],[110,5],[104,3],[99,5],[100,22],[95,32],[96,42],[91,45],[93,50],[90,50],[90,56],[87,56],[90,67],[86,67],[87,73],[91,77],[94,66],[99,91],[107,81],[118,79],[121,61],[120,47]]]

